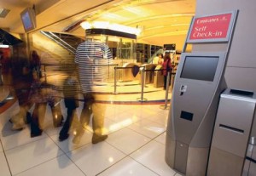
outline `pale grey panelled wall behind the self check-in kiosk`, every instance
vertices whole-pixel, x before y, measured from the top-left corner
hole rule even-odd
[[[256,1],[197,0],[196,15],[216,14],[239,9],[236,29],[225,71],[229,88],[256,91]],[[195,46],[193,51],[218,51],[222,46]]]

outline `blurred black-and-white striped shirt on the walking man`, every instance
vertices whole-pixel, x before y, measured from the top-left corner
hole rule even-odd
[[[93,82],[102,82],[113,56],[105,43],[85,41],[76,50],[75,63],[79,65],[79,81],[83,93],[94,92]]]

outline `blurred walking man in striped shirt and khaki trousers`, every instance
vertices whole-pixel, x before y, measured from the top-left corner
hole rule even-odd
[[[113,57],[105,43],[98,43],[86,40],[79,44],[76,51],[75,63],[79,67],[79,82],[82,93],[84,94],[84,108],[80,116],[81,127],[73,139],[73,143],[78,144],[84,133],[83,126],[90,122],[92,116],[92,144],[96,144],[108,138],[102,134],[104,125],[104,115],[106,105],[96,103],[96,94],[93,88],[94,82],[103,81],[105,78],[105,68],[111,64]]]

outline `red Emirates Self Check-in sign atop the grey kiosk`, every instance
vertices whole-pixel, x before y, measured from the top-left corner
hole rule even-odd
[[[189,32],[189,41],[227,39],[230,34],[232,13],[195,18]]]

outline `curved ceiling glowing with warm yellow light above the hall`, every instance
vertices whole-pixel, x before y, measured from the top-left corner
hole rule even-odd
[[[84,36],[84,30],[74,25],[80,20],[104,20],[121,25],[141,27],[137,37],[144,43],[175,43],[184,37],[195,14],[195,0],[1,0],[0,8],[10,9],[0,18],[0,28],[24,32],[20,12],[35,4],[37,29]]]

